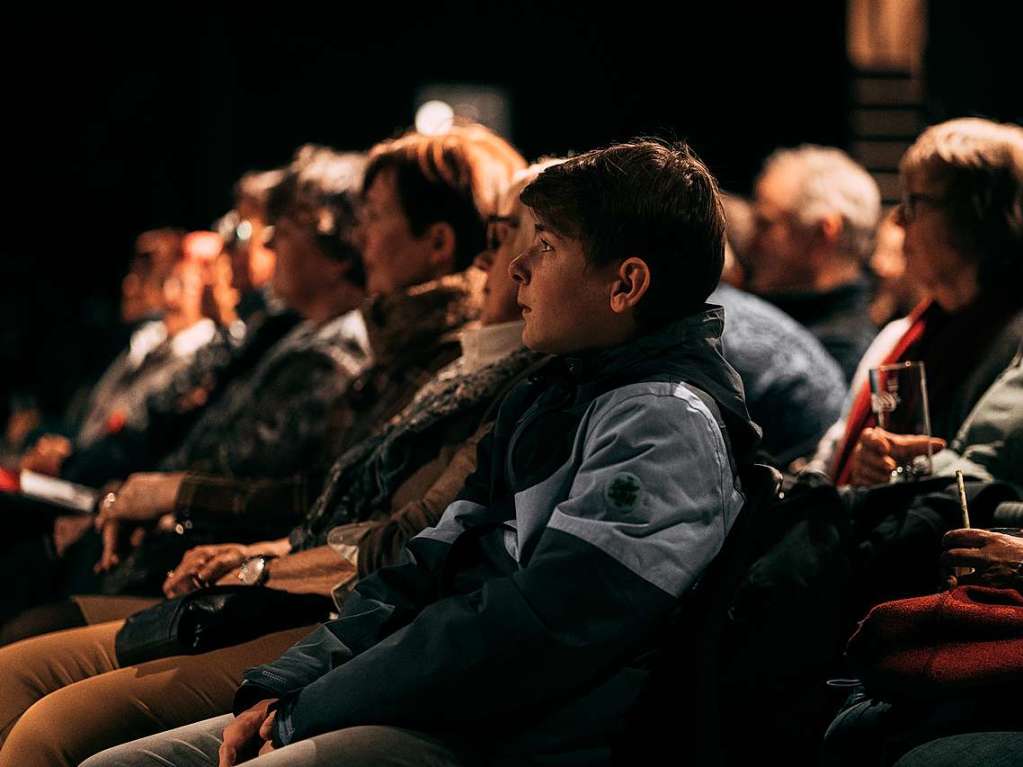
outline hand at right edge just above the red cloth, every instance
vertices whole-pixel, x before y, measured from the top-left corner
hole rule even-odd
[[[941,554],[943,566],[974,569],[970,575],[953,577],[952,586],[1023,586],[1023,538],[991,530],[961,529],[945,533],[941,546],[945,549]]]

